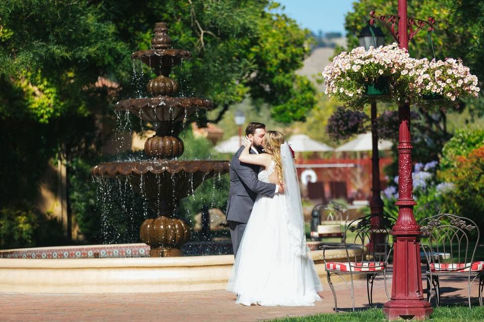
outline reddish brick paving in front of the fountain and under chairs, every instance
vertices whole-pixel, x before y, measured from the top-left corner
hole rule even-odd
[[[391,276],[387,277],[391,291]],[[323,300],[315,306],[262,307],[239,306],[234,295],[222,291],[124,294],[1,294],[0,321],[259,321],[284,316],[333,312],[333,297],[323,284]],[[425,287],[425,284],[424,284]],[[464,302],[462,282],[443,282],[448,292],[443,301]],[[335,284],[338,306],[351,308],[351,297],[344,283]],[[475,289],[475,292],[474,292]],[[366,307],[365,280],[355,281],[355,305]],[[475,285],[473,294],[477,294]],[[383,279],[375,279],[374,302],[386,302]]]

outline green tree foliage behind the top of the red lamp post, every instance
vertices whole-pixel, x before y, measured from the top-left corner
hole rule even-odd
[[[397,14],[397,0],[360,0],[353,3],[353,10],[346,15],[348,48],[358,46],[357,35],[370,19],[370,12],[377,15]],[[479,78],[482,89],[484,73],[484,3],[479,0],[425,0],[408,2],[408,16],[422,20],[434,17],[435,32],[432,34],[437,59],[446,57],[461,58],[472,74]],[[395,42],[390,32],[377,20],[386,35],[386,43]],[[415,58],[434,58],[425,28],[418,32],[409,44],[409,52]],[[479,105],[480,106],[480,105]],[[478,106],[478,107],[479,107]],[[481,114],[482,110],[473,109]]]

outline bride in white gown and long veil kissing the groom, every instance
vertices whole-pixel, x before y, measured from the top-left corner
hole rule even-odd
[[[242,305],[314,305],[323,289],[307,253],[297,174],[289,145],[277,131],[267,131],[266,153],[250,154],[245,144],[239,160],[264,169],[259,180],[284,183],[284,194],[259,194],[227,285]],[[261,168],[262,169],[262,168]]]

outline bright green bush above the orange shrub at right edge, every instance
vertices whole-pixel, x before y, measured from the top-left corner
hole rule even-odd
[[[482,145],[484,145],[484,130],[456,130],[454,136],[442,148],[440,169],[445,171],[450,168],[458,168],[457,156],[466,156]]]

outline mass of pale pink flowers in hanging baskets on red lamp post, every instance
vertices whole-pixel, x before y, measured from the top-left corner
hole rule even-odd
[[[390,95],[380,101],[406,102],[422,108],[456,105],[456,99],[477,97],[477,77],[462,61],[411,58],[396,43],[378,48],[357,47],[342,52],[323,71],[325,93],[345,107],[361,110],[370,100],[365,86],[389,79]],[[428,98],[439,100],[428,100]]]

